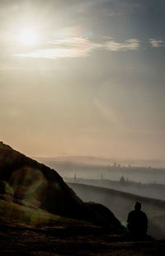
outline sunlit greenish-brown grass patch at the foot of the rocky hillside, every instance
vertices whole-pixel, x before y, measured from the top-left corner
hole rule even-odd
[[[17,201],[18,202],[18,201]],[[44,225],[91,225],[86,221],[73,220],[35,209],[24,201],[19,203],[0,199],[0,225],[40,227]],[[92,225],[91,225],[92,226]]]

